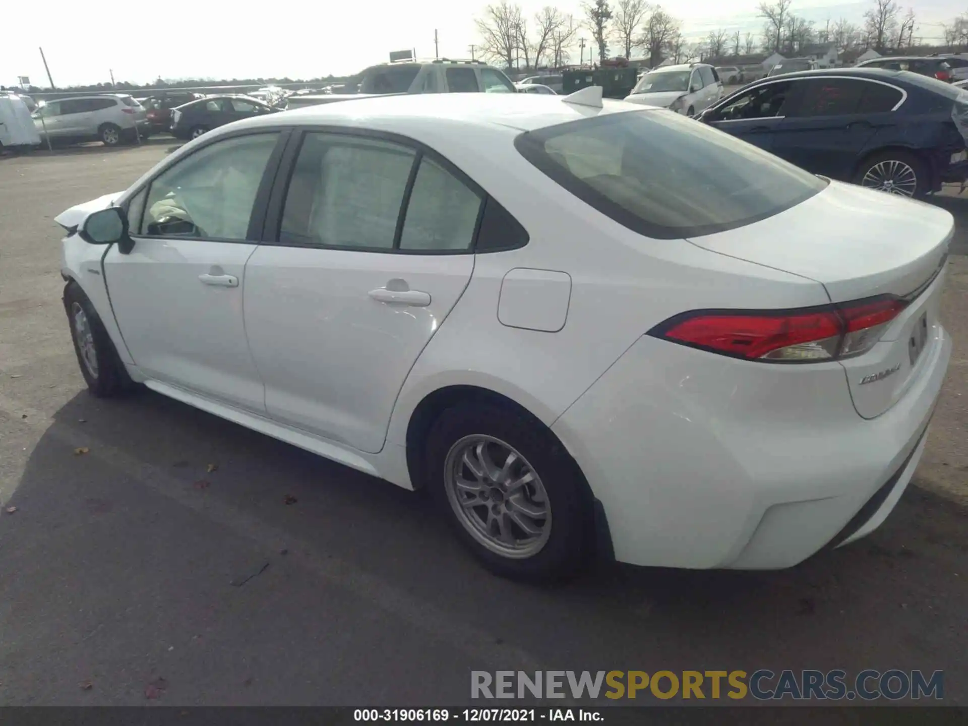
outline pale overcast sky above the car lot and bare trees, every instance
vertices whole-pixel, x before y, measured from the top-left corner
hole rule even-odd
[[[794,0],[793,9],[818,23],[840,16],[861,23],[872,1]],[[522,7],[530,16],[547,4],[537,0]],[[485,5],[478,0],[370,0],[328,6],[273,0],[229,6],[195,0],[190,5],[128,2],[102,13],[76,1],[47,0],[41,15],[34,14],[21,29],[3,34],[0,85],[14,85],[16,76],[48,85],[38,46],[44,47],[54,83],[65,86],[109,80],[108,69],[116,80],[131,82],[158,76],[348,75],[386,60],[390,50],[415,47],[418,56],[433,57],[435,28],[441,56],[469,57],[469,45],[477,42],[472,18]],[[227,7],[232,8],[230,13]],[[558,7],[576,19],[581,15],[580,2],[568,0]],[[668,3],[689,37],[714,28],[758,32],[762,20],[756,7],[757,2],[749,0]],[[940,38],[940,23],[965,10],[961,0],[920,0],[911,7],[919,19],[915,37],[925,41]],[[583,35],[590,37],[587,31]],[[612,47],[614,53],[618,43]]]

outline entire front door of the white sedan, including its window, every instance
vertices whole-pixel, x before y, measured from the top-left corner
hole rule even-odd
[[[246,337],[245,268],[284,143],[278,132],[232,136],[166,167],[130,204],[130,254],[115,245],[104,262],[145,376],[257,413],[265,389]]]

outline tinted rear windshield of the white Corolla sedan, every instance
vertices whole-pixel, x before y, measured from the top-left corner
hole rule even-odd
[[[755,146],[664,110],[526,132],[515,146],[575,197],[658,239],[750,225],[827,186]]]

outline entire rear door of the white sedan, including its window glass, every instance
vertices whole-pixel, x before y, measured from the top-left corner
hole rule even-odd
[[[481,197],[407,144],[321,132],[303,136],[273,195],[280,219],[270,212],[244,296],[266,411],[378,452],[410,368],[469,284]]]

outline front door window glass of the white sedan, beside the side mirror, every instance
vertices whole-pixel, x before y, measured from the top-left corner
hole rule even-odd
[[[227,138],[167,168],[151,182],[139,233],[245,240],[277,136]]]

